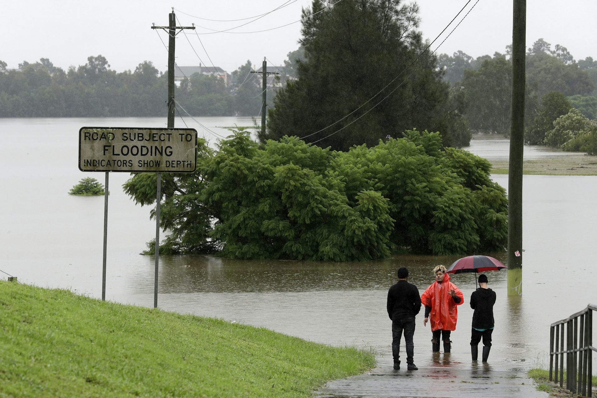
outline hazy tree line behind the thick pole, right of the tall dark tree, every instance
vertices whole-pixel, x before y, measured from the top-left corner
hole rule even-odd
[[[463,92],[464,115],[471,129],[509,135],[512,90],[510,55],[511,46],[506,48],[505,54],[494,53],[493,57],[483,55],[473,58],[462,51],[451,56],[439,55],[438,66],[444,73],[444,80]],[[595,118],[597,61],[592,57],[575,61],[562,45],[558,44],[552,50],[549,43],[538,39],[528,48],[526,63],[525,119],[528,143],[545,144],[544,132],[553,129],[553,121],[568,113],[571,107],[577,108],[588,119]],[[561,95],[548,95],[555,92]],[[567,99],[565,104],[562,98]],[[556,104],[554,101],[559,102]],[[563,110],[562,106],[568,109]],[[536,122],[537,116],[540,120]]]

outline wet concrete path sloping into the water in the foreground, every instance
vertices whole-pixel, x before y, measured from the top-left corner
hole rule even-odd
[[[546,398],[521,369],[492,367],[487,363],[451,361],[450,354],[434,354],[430,366],[407,371],[406,363],[395,371],[391,358],[362,375],[328,382],[315,391],[317,397],[524,397]]]

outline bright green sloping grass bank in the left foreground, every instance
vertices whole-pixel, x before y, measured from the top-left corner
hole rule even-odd
[[[0,397],[307,397],[374,365],[352,347],[0,281]]]

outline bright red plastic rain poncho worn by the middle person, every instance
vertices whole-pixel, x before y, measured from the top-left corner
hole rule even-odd
[[[454,303],[454,299],[448,292],[452,289],[456,291],[456,295],[460,297],[460,303]],[[464,303],[464,296],[460,289],[450,282],[450,276],[444,274],[444,282],[433,282],[426,291],[421,295],[421,303],[423,306],[431,307],[429,313],[429,322],[431,323],[431,330],[456,330],[456,321],[458,319],[458,308],[460,304]]]

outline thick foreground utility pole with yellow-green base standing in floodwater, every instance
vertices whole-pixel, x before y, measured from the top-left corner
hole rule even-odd
[[[527,0],[513,0],[513,2],[512,125],[508,169],[508,295],[522,295],[522,155]]]

